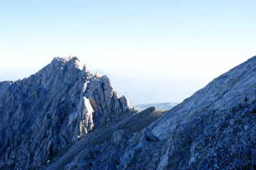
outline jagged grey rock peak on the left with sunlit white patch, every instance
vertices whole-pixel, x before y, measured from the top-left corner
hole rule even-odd
[[[76,57],[56,57],[29,78],[0,82],[0,169],[36,169],[128,110],[109,78]]]

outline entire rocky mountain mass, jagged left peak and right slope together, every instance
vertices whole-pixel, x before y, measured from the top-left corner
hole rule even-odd
[[[76,57],[0,83],[1,169],[256,169],[256,57],[136,111]]]

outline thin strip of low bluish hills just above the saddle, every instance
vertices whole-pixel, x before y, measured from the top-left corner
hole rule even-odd
[[[136,110],[145,110],[150,107],[155,107],[157,110],[170,110],[178,103],[149,103],[134,105]]]

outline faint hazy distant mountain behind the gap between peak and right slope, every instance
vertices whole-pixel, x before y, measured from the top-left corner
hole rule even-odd
[[[182,88],[182,85],[177,85],[174,80],[159,80],[156,77],[152,79],[120,77],[101,69],[95,69],[93,73],[108,76],[115,84],[116,92],[126,96],[132,107],[145,103],[172,103],[182,97],[185,99],[188,95],[186,91],[188,88]]]

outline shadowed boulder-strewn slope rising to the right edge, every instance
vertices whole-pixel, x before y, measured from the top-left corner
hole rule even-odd
[[[81,147],[61,168],[253,169],[255,120],[256,57],[252,57],[147,127],[137,131],[122,127],[111,139]]]

